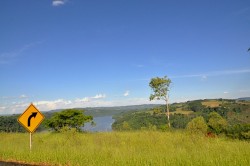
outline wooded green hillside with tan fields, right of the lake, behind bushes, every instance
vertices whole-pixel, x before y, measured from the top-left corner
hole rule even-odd
[[[162,105],[150,110],[118,114],[114,116],[116,121],[113,123],[112,128],[114,130],[166,130],[165,110],[166,107]],[[237,137],[236,135],[243,132],[243,130],[248,132],[249,127],[246,126],[250,124],[250,101],[243,100],[205,99],[173,103],[170,104],[170,123],[174,129],[184,129],[188,122],[197,116],[202,116],[208,123],[209,115],[212,112],[218,113],[227,121],[228,125],[224,132],[228,135]],[[212,126],[209,127],[209,129],[213,130]],[[235,132],[232,134],[233,130]]]

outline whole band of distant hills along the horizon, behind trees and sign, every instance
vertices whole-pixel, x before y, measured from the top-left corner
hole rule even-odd
[[[181,103],[172,103],[169,108],[171,123],[174,128],[185,128],[186,124],[196,116],[203,116],[205,120],[208,120],[208,115],[211,112],[219,113],[230,125],[250,124],[250,97],[239,99],[193,100]],[[166,124],[165,105],[159,104],[119,107],[87,107],[74,109],[84,110],[84,114],[91,115],[93,117],[112,116],[116,120],[113,125],[115,129],[117,129],[117,127],[120,128],[124,122],[129,123],[131,126],[135,125],[138,129],[141,129],[141,127],[145,127],[145,125],[149,124],[158,125],[158,127],[161,127],[161,124]],[[62,110],[64,109],[56,109],[42,113],[45,115],[46,120],[52,117],[53,113],[60,112]],[[0,132],[23,131],[23,128],[20,127],[20,124],[17,122],[17,117],[19,115],[20,114],[9,116],[0,115]],[[148,127],[150,127],[150,125]],[[38,131],[42,130],[44,130],[44,123],[42,123],[38,128]]]

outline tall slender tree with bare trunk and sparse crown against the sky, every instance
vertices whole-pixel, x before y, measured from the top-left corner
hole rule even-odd
[[[149,86],[151,87],[153,94],[150,95],[149,99],[154,100],[164,100],[166,102],[166,116],[168,119],[168,127],[170,127],[170,120],[169,120],[169,107],[168,107],[168,91],[169,86],[171,84],[171,80],[165,76],[163,78],[155,77],[152,78]]]

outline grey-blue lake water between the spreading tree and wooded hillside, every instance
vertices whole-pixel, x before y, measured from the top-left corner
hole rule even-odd
[[[85,131],[112,131],[112,123],[114,119],[112,116],[94,117],[95,126],[91,126],[91,123],[85,123],[83,130]]]

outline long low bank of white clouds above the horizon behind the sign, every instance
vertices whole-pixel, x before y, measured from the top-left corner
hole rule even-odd
[[[98,95],[96,95],[98,96]],[[104,95],[99,95],[104,96]],[[54,109],[67,109],[67,108],[86,108],[86,107],[112,107],[112,106],[127,106],[127,105],[140,105],[140,104],[159,104],[162,101],[154,100],[149,101],[148,98],[127,98],[126,100],[104,100],[91,97],[82,99],[66,100],[41,100],[34,101],[33,104],[40,111],[50,111]],[[0,114],[18,114],[22,113],[30,105],[29,102],[16,102],[8,105],[0,105]]]

